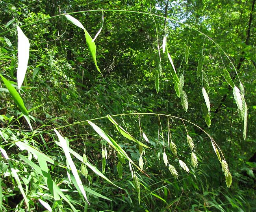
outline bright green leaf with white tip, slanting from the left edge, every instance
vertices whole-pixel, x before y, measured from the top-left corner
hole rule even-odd
[[[33,130],[32,125],[30,124],[30,118],[28,116],[28,111],[24,105],[24,102],[22,100],[22,98],[20,97],[19,93],[17,92],[17,90],[15,90],[15,88],[11,85],[11,83],[9,83],[9,81],[0,74],[0,77],[2,78],[2,80],[4,81],[4,84],[6,85],[7,89],[9,90],[11,96],[13,97],[13,100],[15,101],[16,105],[19,107],[20,111],[22,112],[24,118],[26,119],[26,121],[28,122],[28,125],[30,126],[30,129]]]

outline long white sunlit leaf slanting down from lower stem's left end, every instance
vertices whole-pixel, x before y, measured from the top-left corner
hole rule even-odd
[[[65,153],[65,156],[66,156],[67,160],[69,161],[69,166],[70,166],[71,171],[72,171],[72,173],[73,173],[73,175],[74,175],[74,178],[76,179],[76,183],[78,184],[78,187],[79,187],[80,191],[82,192],[83,197],[85,198],[85,200],[86,200],[87,203],[89,204],[89,202],[88,202],[88,200],[87,200],[87,197],[86,197],[86,194],[85,194],[85,190],[84,190],[84,188],[83,188],[83,183],[82,183],[82,181],[81,181],[81,179],[80,179],[80,177],[79,177],[79,175],[78,175],[76,166],[75,166],[75,164],[74,164],[74,162],[73,162],[73,160],[72,160],[72,158],[71,158],[71,156],[70,156],[69,147],[67,146],[67,142],[66,142],[66,140],[59,134],[59,132],[58,132],[56,129],[54,129],[54,132],[55,132],[56,135],[58,136],[59,142],[60,142],[60,144],[61,144],[61,147],[62,147],[62,149],[63,149],[63,151],[64,151],[64,153]]]

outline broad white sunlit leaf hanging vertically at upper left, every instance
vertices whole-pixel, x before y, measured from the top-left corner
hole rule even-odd
[[[28,67],[28,59],[29,59],[29,48],[30,43],[28,38],[19,26],[17,26],[18,31],[18,69],[17,69],[17,81],[18,81],[18,89],[20,89],[23,80],[26,75],[27,67]]]

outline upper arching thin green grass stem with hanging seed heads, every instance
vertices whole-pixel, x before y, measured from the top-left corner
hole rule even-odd
[[[83,10],[83,11],[77,11],[77,12],[72,12],[72,13],[63,13],[63,14],[59,14],[59,15],[54,15],[52,17],[47,17],[47,18],[42,18],[40,20],[36,20],[36,21],[33,21],[31,23],[28,23],[28,24],[24,24],[22,26],[20,26],[20,28],[24,28],[26,26],[30,26],[32,24],[36,24],[38,22],[41,22],[41,21],[45,21],[45,20],[50,20],[52,18],[57,18],[57,17],[61,17],[61,16],[64,16],[64,15],[72,15],[72,14],[78,14],[78,13],[89,13],[89,12],[120,12],[120,13],[137,13],[137,14],[143,14],[143,15],[150,15],[152,17],[158,17],[158,18],[165,18],[166,20],[171,20],[171,21],[174,21],[178,24],[181,24],[181,25],[184,25],[190,29],[193,29],[195,31],[197,31],[198,33],[200,33],[201,35],[204,35],[205,37],[207,37],[210,41],[212,41],[223,53],[224,55],[228,58],[228,60],[230,61],[232,67],[234,68],[235,72],[236,72],[236,75],[238,77],[238,80],[239,82],[241,83],[240,81],[240,78],[239,78],[239,75],[237,73],[237,70],[236,70],[236,67],[234,66],[234,64],[232,63],[230,57],[228,56],[228,54],[223,50],[223,48],[221,48],[221,46],[219,44],[217,44],[217,42],[215,42],[211,37],[209,37],[208,35],[206,35],[205,33],[201,32],[200,30],[194,28],[193,26],[190,26],[189,24],[185,24],[181,21],[178,21],[178,20],[175,20],[173,18],[167,18],[167,17],[163,17],[161,15],[156,15],[156,14],[152,14],[152,13],[147,13],[147,12],[140,12],[140,11],[132,11],[132,10],[121,10],[121,9],[93,9],[93,10]],[[13,28],[13,29],[9,29],[7,31],[4,31],[2,33],[0,33],[0,36],[1,35],[4,35],[6,33],[8,33],[9,31],[13,31],[13,30],[16,30],[16,28]]]

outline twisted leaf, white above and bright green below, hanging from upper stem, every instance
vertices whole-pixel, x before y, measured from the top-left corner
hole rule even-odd
[[[93,57],[93,61],[95,63],[95,66],[96,66],[98,72],[100,72],[100,69],[98,68],[97,61],[96,61],[96,45],[95,45],[95,42],[93,41],[93,39],[91,38],[91,35],[89,35],[89,33],[86,31],[86,29],[83,27],[83,24],[81,24],[81,22],[79,20],[72,17],[71,15],[65,15],[65,17],[69,21],[71,21],[74,25],[83,29],[83,31],[85,33],[85,39],[86,39],[87,46],[89,48],[91,56]],[[100,74],[101,74],[101,72],[100,72]]]

